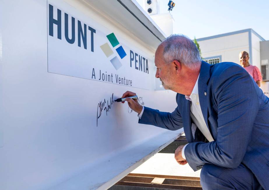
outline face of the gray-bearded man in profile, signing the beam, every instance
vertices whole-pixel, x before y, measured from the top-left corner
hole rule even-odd
[[[155,53],[155,66],[157,71],[155,74],[156,78],[159,78],[163,88],[166,90],[173,89],[173,76],[170,65],[163,61],[162,51],[158,48]]]

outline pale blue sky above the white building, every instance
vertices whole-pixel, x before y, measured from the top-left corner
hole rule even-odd
[[[143,0],[137,0],[143,5]],[[160,12],[168,12],[168,0],[159,0]],[[174,0],[174,33],[203,38],[252,28],[269,40],[269,1]]]

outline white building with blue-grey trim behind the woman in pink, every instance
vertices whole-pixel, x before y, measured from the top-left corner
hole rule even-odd
[[[265,53],[261,54],[261,52],[264,52],[264,48],[260,46],[260,44],[262,44],[262,47],[266,46],[267,41],[253,29],[199,38],[197,41],[201,48],[201,56],[210,64],[225,61],[239,64],[239,53],[241,51],[248,52],[249,63],[257,66],[263,74],[261,89],[263,92],[269,91],[268,66],[266,66],[268,65],[268,59],[267,62],[265,58],[261,59],[261,56],[265,56]],[[262,67],[261,63],[263,63]]]

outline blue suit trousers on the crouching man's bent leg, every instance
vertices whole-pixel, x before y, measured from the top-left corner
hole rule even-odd
[[[221,168],[213,164],[205,164],[200,178],[203,190],[263,189],[255,175],[242,163],[237,168]]]

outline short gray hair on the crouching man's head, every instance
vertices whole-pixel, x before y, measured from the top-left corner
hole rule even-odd
[[[167,64],[177,60],[191,69],[196,69],[202,61],[197,46],[185,35],[170,35],[161,44],[164,47],[163,59]]]

